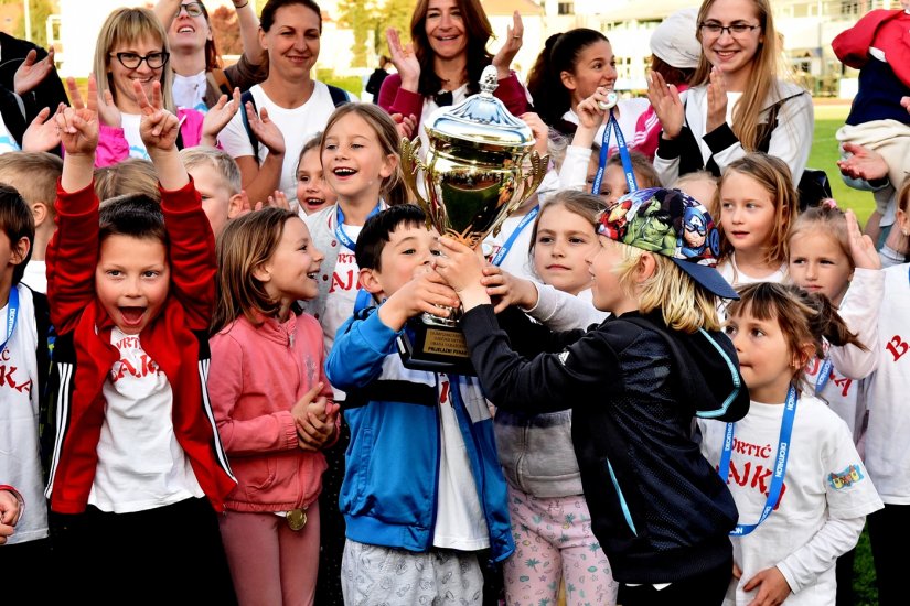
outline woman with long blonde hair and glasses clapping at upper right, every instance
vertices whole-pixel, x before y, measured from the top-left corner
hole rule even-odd
[[[783,160],[799,183],[814,128],[812,97],[778,74],[779,40],[769,0],[704,0],[702,57],[683,102],[651,72],[647,97],[661,121],[654,167],[664,183],[761,151]]]

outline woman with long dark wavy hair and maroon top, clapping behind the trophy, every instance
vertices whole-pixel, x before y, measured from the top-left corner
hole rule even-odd
[[[402,46],[398,31],[386,31],[392,63],[398,71],[384,82],[378,105],[393,116],[422,116],[458,104],[480,91],[480,74],[488,65],[499,72],[494,95],[515,116],[527,111],[527,96],[512,61],[522,47],[524,26],[518,11],[513,14],[507,39],[495,56],[486,51],[493,35],[480,0],[418,0],[410,20],[411,44]]]

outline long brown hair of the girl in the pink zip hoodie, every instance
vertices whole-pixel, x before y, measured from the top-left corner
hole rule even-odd
[[[240,315],[259,325],[261,316],[278,313],[278,302],[253,272],[275,255],[285,224],[295,217],[296,213],[282,208],[263,208],[227,221],[215,246],[218,278],[213,335]]]

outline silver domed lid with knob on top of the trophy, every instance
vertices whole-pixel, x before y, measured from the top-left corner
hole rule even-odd
[[[435,140],[524,151],[534,145],[531,127],[513,116],[493,96],[499,86],[496,68],[488,65],[480,77],[480,94],[457,106],[437,109],[425,122],[430,145]]]

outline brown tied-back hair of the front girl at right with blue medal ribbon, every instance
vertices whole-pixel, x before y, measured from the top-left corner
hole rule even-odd
[[[738,292],[739,301],[730,302],[728,316],[748,312],[757,320],[777,322],[786,339],[788,350],[793,356],[794,380],[801,377],[803,368],[810,361],[807,345],[813,347],[812,354],[820,358],[825,357],[823,339],[832,345],[855,345],[868,351],[868,347],[850,333],[837,314],[837,309],[824,294],[809,293],[793,284],[774,282],[748,284]]]

